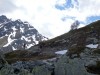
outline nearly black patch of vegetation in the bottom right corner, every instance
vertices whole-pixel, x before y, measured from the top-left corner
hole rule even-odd
[[[86,66],[89,73],[100,74],[100,61],[97,61],[96,65]]]

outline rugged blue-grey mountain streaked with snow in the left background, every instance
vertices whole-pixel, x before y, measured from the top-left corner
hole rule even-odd
[[[28,49],[47,39],[26,21],[13,21],[5,15],[0,16],[0,48],[3,52],[24,49],[24,45]]]

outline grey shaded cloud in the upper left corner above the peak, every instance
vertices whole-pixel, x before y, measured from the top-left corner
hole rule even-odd
[[[0,14],[11,12],[16,9],[13,4],[14,0],[0,0]]]

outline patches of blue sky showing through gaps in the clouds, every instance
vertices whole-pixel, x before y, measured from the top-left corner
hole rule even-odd
[[[78,0],[75,0],[76,4],[77,4],[77,9],[78,9],[78,5],[79,5],[79,2]],[[63,4],[63,5],[55,5],[55,7],[58,9],[58,10],[66,10],[66,9],[70,9],[70,8],[74,8],[74,4],[72,3],[72,0],[66,0],[66,3]],[[71,18],[71,19],[75,19],[75,17],[73,16],[67,16],[67,17],[63,17],[62,20],[65,21],[66,19],[68,18]],[[84,21],[80,21],[82,24],[89,24],[91,22],[94,22],[94,21],[97,21],[97,20],[100,20],[100,16],[89,16],[87,17],[87,20],[85,21],[86,23],[84,23]]]

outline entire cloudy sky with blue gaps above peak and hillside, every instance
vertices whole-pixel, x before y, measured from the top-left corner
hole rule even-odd
[[[100,0],[0,0],[0,15],[28,21],[42,35],[54,38],[100,19]]]

